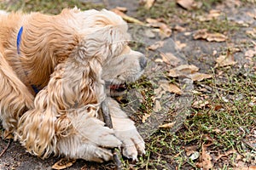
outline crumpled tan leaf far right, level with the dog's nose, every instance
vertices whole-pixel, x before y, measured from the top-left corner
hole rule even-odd
[[[236,61],[234,55],[230,54],[230,52],[228,51],[228,53],[225,55],[219,55],[216,59],[216,63],[217,64],[214,66],[215,68],[227,65],[235,65]]]

